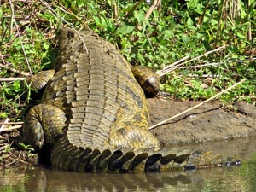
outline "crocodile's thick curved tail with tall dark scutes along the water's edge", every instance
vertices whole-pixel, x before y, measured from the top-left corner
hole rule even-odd
[[[183,168],[188,158],[187,151],[100,151],[61,142],[52,151],[51,163],[56,168],[76,172],[159,172],[171,171],[175,167]]]

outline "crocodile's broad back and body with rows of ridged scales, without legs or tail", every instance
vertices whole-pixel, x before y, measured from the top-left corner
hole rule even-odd
[[[148,133],[143,90],[113,44],[71,29],[62,30],[59,44],[55,77],[43,100],[67,114],[69,142],[83,148],[159,148]],[[145,145],[148,137],[154,142]]]

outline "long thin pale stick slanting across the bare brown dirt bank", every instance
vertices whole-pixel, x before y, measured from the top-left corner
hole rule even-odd
[[[215,96],[212,96],[211,98],[207,99],[206,101],[201,102],[201,103],[195,105],[194,107],[189,108],[189,109],[183,111],[182,113],[178,113],[178,114],[172,116],[171,118],[165,119],[165,120],[161,121],[160,123],[158,123],[158,124],[156,124],[156,125],[150,126],[148,129],[149,129],[149,130],[152,130],[152,129],[154,129],[155,127],[157,127],[157,126],[159,126],[159,125],[165,124],[165,123],[166,123],[167,121],[169,121],[169,120],[175,119],[175,118],[177,118],[178,116],[180,116],[180,115],[182,115],[182,114],[184,114],[184,113],[188,113],[189,111],[192,111],[193,109],[198,108],[198,107],[200,107],[201,105],[203,105],[203,104],[205,104],[205,103],[207,103],[207,102],[212,101],[212,100],[215,99],[216,97],[221,96],[222,94],[224,94],[224,93],[228,92],[229,90],[235,88],[238,84],[241,84],[241,83],[244,82],[245,80],[246,80],[246,79],[241,79],[240,82],[238,82],[238,83],[236,83],[236,84],[233,84],[233,85],[230,86],[228,89],[219,92],[218,94],[216,94]]]

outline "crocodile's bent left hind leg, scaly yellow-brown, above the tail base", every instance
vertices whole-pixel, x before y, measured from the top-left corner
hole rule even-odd
[[[39,104],[26,115],[23,125],[24,140],[36,151],[40,151],[46,144],[52,146],[64,132],[66,121],[65,113],[60,108]]]

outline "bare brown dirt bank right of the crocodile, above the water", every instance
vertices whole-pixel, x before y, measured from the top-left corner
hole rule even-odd
[[[175,102],[165,98],[148,99],[150,125],[155,125],[200,102]],[[256,131],[256,107],[237,102],[236,111],[227,111],[220,102],[207,102],[151,131],[162,144],[205,143],[248,137]]]

